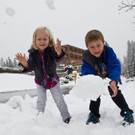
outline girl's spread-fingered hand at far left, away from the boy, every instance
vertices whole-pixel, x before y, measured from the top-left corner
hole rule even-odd
[[[22,53],[17,53],[15,56],[16,56],[15,59],[18,60],[24,67],[26,67],[26,68],[28,67],[28,63],[26,61],[25,54],[22,55]]]

